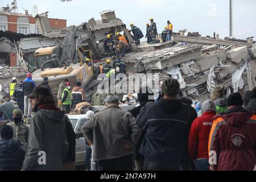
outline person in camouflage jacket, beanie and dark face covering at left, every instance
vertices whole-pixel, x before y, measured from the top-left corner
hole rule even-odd
[[[23,112],[20,109],[13,110],[13,121],[7,123],[7,125],[13,128],[14,139],[23,146],[24,150],[27,151],[28,146],[28,131],[29,128],[22,119]]]

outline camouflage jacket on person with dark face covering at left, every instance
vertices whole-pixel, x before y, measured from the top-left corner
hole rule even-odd
[[[27,144],[28,144],[28,133],[29,128],[26,124],[24,124],[24,121],[20,121],[18,125],[16,125],[13,121],[7,123],[7,125],[11,126],[13,128],[13,138],[15,140],[18,140],[20,144],[23,146],[25,150],[27,150]]]

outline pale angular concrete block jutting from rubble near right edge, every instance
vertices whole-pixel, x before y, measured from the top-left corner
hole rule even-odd
[[[227,52],[227,57],[234,63],[240,63],[249,59],[250,55],[246,46],[237,47]]]

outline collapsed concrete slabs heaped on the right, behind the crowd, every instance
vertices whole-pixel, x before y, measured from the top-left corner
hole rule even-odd
[[[160,81],[177,78],[183,94],[204,101],[215,85],[226,92],[245,92],[256,86],[256,44],[250,47],[200,46],[178,43],[125,58],[129,73],[160,73]]]

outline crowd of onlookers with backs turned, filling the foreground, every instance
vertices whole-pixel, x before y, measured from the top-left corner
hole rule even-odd
[[[61,100],[57,98],[59,105],[65,104],[65,95],[72,98],[67,82]],[[120,98],[109,94],[105,109],[87,111],[88,121],[81,130],[92,148],[91,169],[253,170],[256,88],[243,98],[240,93],[226,98],[224,87],[216,86],[211,99],[196,109],[191,98],[180,94],[177,80],[163,82],[157,101],[150,100],[151,88],[142,90],[140,105],[132,110],[122,110]],[[45,85],[36,86],[26,97],[34,113],[29,129],[22,110],[13,111],[11,122],[4,121],[0,112],[0,169],[74,170],[76,136],[67,109],[57,107]]]

